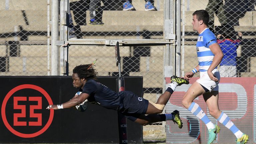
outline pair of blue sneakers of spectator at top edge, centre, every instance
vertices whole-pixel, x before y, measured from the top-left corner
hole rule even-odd
[[[135,8],[132,5],[132,0],[122,0],[123,2],[123,10],[134,10]],[[155,11],[156,8],[154,6],[154,0],[145,0],[145,11]]]

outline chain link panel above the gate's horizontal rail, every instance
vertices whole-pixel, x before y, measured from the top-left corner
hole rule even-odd
[[[84,39],[163,39],[164,1],[149,1],[154,11],[146,10],[144,0],[131,1],[128,6],[134,9],[126,11],[124,2],[71,0],[71,35]]]

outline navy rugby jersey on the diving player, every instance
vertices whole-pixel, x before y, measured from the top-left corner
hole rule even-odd
[[[123,108],[125,96],[118,95],[115,91],[96,82],[94,79],[87,79],[82,93],[89,94],[88,101],[93,104],[98,104],[107,109],[120,110]]]

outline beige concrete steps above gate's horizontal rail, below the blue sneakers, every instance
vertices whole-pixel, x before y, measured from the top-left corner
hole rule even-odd
[[[90,16],[87,11],[87,24]],[[163,38],[163,11],[104,11],[103,26],[80,26],[83,38]]]

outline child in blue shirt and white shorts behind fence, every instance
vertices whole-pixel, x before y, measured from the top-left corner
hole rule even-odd
[[[242,33],[238,32],[238,39],[234,38],[232,32],[227,31],[222,35],[217,35],[217,42],[224,54],[220,63],[220,76],[221,77],[237,77],[236,74],[236,57],[239,43],[242,40]],[[236,39],[236,40],[235,40]]]

